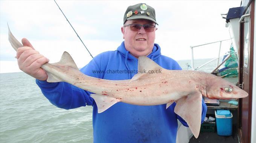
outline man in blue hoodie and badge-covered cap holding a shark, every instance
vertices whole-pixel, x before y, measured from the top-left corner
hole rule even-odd
[[[140,56],[151,58],[165,69],[181,70],[176,61],[161,55],[160,46],[154,43],[155,30],[157,30],[154,8],[142,3],[129,6],[123,18],[123,24],[121,31],[124,42],[116,51],[97,55],[81,69],[81,72],[101,79],[131,79],[136,74],[131,71],[137,70]],[[119,102],[106,111],[98,113],[97,105],[90,97],[90,92],[66,82],[46,82],[47,74],[40,67],[49,60],[35,51],[28,40],[23,39],[22,43],[24,47],[17,51],[19,67],[37,79],[36,83],[52,104],[63,109],[93,106],[95,143],[175,143],[177,119],[188,126],[180,116],[174,113],[175,103],[166,109],[166,104],[137,106]],[[107,72],[113,70],[127,72]],[[206,110],[206,105],[202,102],[201,121],[204,120]]]

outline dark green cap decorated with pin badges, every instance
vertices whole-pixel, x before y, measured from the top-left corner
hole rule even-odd
[[[125,24],[127,20],[132,19],[148,19],[157,24],[155,19],[155,9],[146,5],[146,3],[138,3],[127,7],[125,15],[123,16],[123,24]]]

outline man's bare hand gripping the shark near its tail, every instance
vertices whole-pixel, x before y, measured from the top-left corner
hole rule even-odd
[[[39,54],[26,38],[21,42],[23,47],[18,48],[16,56],[20,70],[38,80],[47,80],[48,76],[41,66],[49,59]]]

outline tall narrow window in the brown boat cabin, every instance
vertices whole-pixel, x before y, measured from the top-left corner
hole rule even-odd
[[[247,9],[246,14],[249,14],[249,9]],[[250,16],[244,18],[244,67],[248,67],[248,55],[249,55],[249,34],[250,34]]]

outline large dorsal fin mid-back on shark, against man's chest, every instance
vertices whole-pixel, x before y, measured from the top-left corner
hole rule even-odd
[[[142,79],[142,78],[148,77],[148,76],[150,76],[152,71],[154,71],[154,73],[157,73],[159,71],[162,72],[163,70],[165,70],[165,69],[160,67],[157,63],[155,63],[150,58],[145,57],[145,56],[139,57],[138,73],[133,76],[133,78],[130,80],[130,82],[137,80],[137,79]],[[151,73],[149,73],[149,71],[151,71]]]

